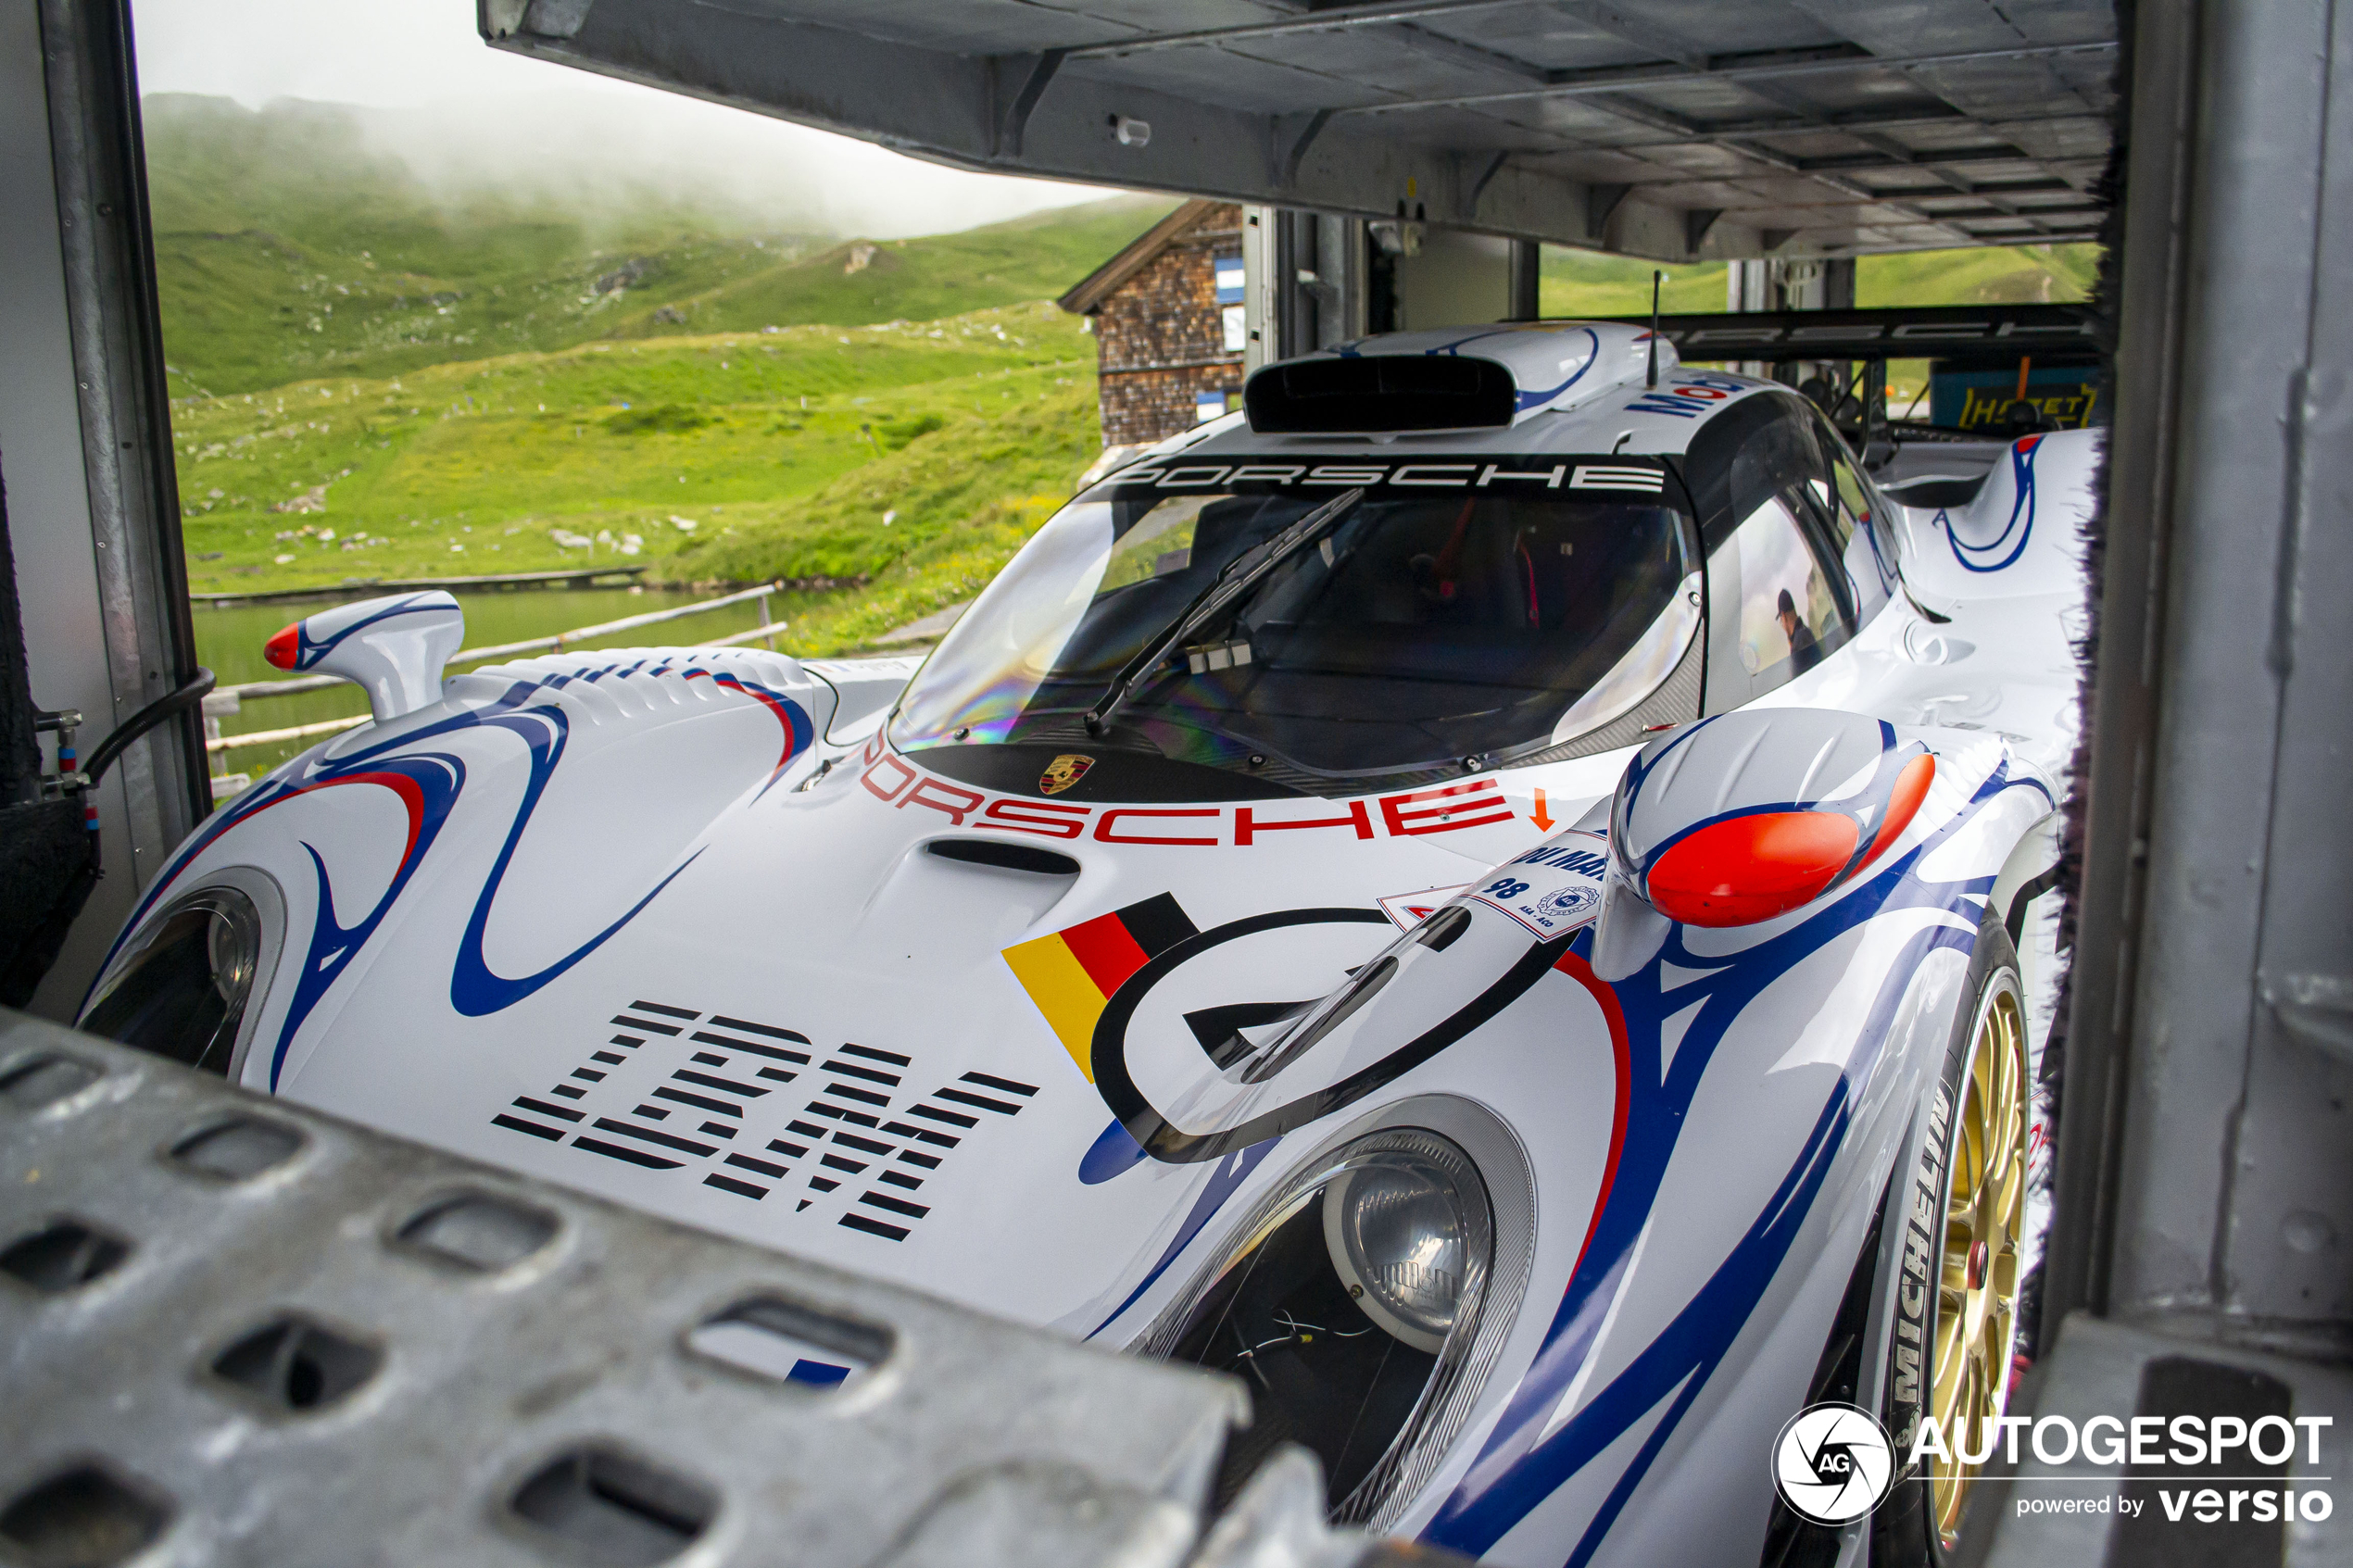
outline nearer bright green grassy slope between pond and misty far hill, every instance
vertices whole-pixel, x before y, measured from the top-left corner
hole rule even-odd
[[[1045,303],[315,378],[172,421],[198,592],[621,559],[864,578],[955,508],[1049,470],[1068,494],[1099,449],[1092,339]],[[932,501],[901,501],[915,475],[941,475]],[[828,489],[845,477],[873,505]]]

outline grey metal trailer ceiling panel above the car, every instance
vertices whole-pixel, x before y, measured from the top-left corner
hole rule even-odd
[[[2087,237],[2115,71],[2108,0],[478,5],[494,47],[969,169],[1661,261]]]

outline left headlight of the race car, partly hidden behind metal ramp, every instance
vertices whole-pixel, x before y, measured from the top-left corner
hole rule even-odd
[[[226,1074],[261,969],[261,912],[233,886],[181,898],[115,964],[82,1027]]]

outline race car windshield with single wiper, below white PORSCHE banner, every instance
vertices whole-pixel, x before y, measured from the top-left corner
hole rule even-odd
[[[1480,484],[1482,468],[1501,477]],[[1217,477],[1184,484],[1193,475]],[[1508,762],[1631,710],[1697,630],[1697,531],[1661,468],[1501,458],[1398,475],[1301,458],[1129,470],[1087,491],[955,623],[892,738],[1092,741],[1327,778]],[[1261,569],[1261,545],[1348,489],[1362,496]],[[1221,576],[1247,588],[1134,672],[1089,736],[1089,708],[1214,602]]]

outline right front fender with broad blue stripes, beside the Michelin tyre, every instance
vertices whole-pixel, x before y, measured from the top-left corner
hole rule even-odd
[[[1762,1542],[1769,1439],[1805,1396],[1871,1213],[1913,1143],[1995,877],[2049,811],[2047,785],[1991,736],[1897,741],[1937,755],[1918,813],[1807,905],[1737,929],[1664,922],[1605,978],[1591,961],[1605,835],[1572,830],[1473,882],[1452,905],[1461,917],[1445,952],[1409,931],[1384,954],[1395,971],[1377,997],[1348,1006],[1379,961],[1304,1013],[1289,1044],[1261,1044],[1278,1058],[1346,1011],[1264,1091],[1299,1070],[1311,1088],[1332,1086],[1513,976],[1567,976],[1598,1001],[1551,1023],[1506,1004],[1457,1046],[1466,1067],[1504,1034],[1522,1060],[1544,1060],[1546,1044],[1577,1063],[1607,1048],[1617,1105],[1609,1133],[1581,1133],[1567,1164],[1548,1154],[1553,1128],[1593,1117],[1565,1117],[1541,1079],[1506,1107],[1539,1173],[1577,1171],[1539,1192],[1555,1272],[1529,1284],[1532,1333],[1515,1342],[1534,1345],[1504,1368],[1515,1385],[1499,1385],[1442,1486],[1405,1521],[1428,1540],[1548,1563],[1715,1561],[1737,1556],[1727,1542],[1751,1554]],[[1621,891],[1612,884],[1612,898]],[[1565,929],[1532,924],[1541,917]],[[1205,1086],[1184,1100],[1202,1117],[1186,1131],[1240,1126],[1264,1091]]]

